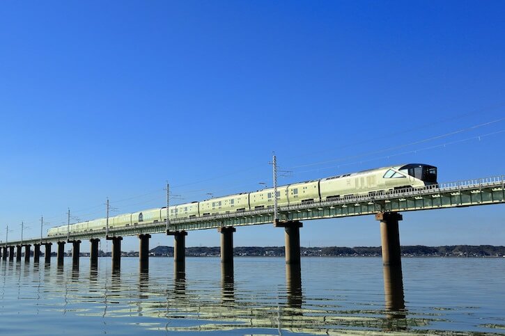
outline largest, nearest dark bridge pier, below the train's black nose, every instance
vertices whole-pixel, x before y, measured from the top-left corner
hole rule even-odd
[[[398,221],[402,220],[397,212],[375,214],[380,221],[380,241],[382,246],[382,264],[401,267],[400,232]]]

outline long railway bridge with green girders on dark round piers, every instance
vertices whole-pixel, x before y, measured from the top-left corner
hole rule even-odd
[[[384,264],[384,288],[387,296],[398,297],[392,292],[402,288],[401,250],[398,221],[401,212],[444,209],[454,207],[474,207],[505,203],[505,176],[469,179],[465,181],[433,184],[421,188],[405,188],[377,195],[347,196],[338,200],[304,202],[303,204],[278,207],[277,220],[274,209],[258,209],[231,214],[217,214],[194,218],[171,219],[166,222],[147,222],[142,225],[70,232],[51,237],[6,241],[1,246],[3,261],[8,258],[18,262],[22,258],[29,262],[33,245],[34,263],[40,259],[40,246],[45,246],[45,263],[51,262],[52,244],[57,244],[57,263],[63,266],[65,243],[72,243],[72,266],[79,267],[79,250],[82,240],[91,243],[91,267],[98,266],[98,242],[100,239],[112,241],[112,267],[121,267],[121,240],[125,236],[139,237],[139,269],[148,271],[149,239],[151,234],[164,233],[174,237],[174,270],[176,274],[185,271],[185,237],[193,230],[217,229],[221,235],[222,277],[233,279],[233,233],[244,225],[273,223],[285,230],[286,275],[291,285],[300,280],[300,228],[302,221],[323,218],[373,215],[380,221],[382,262]],[[16,249],[16,252],[15,252]],[[388,294],[389,293],[389,294]],[[388,301],[387,301],[388,302]],[[401,307],[403,303],[390,301],[390,307]]]

